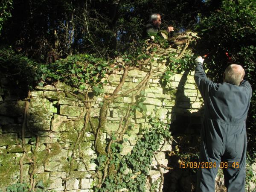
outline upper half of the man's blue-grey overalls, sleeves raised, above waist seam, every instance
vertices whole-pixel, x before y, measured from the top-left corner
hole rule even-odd
[[[207,79],[203,65],[197,63],[195,83],[204,99],[206,118],[227,122],[243,122],[247,118],[252,88],[248,81],[240,86],[230,83],[214,83]]]

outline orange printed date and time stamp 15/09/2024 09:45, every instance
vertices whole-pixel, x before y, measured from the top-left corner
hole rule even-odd
[[[218,168],[216,162],[179,162],[180,169],[186,168],[202,168],[202,169],[212,169]],[[239,169],[239,162],[221,162],[220,166],[221,169],[233,168]]]

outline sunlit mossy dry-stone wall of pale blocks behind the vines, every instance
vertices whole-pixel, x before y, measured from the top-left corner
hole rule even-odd
[[[187,143],[196,143],[200,133],[202,98],[195,87],[194,71],[186,70],[172,76],[170,83],[161,83],[161,76],[166,69],[166,61],[157,61],[154,58],[153,69],[159,64],[162,67],[156,71],[145,89],[146,113],[135,111],[131,117],[130,124],[125,132],[124,138],[127,142],[123,144],[121,155],[132,152],[138,139],[143,137],[143,131],[150,128],[149,116],[155,116],[160,121],[170,125],[173,135],[186,134]],[[146,68],[149,68],[146,67]],[[100,96],[91,96],[90,117],[95,125],[99,123],[99,110],[105,95],[113,93],[122,78],[123,71],[116,70],[108,74],[108,84],[104,85],[104,93]],[[124,85],[118,94],[136,87],[146,76],[146,70],[130,70]],[[33,166],[36,181],[43,180],[47,189],[58,191],[81,191],[90,192],[97,184],[95,175],[96,164],[93,159],[97,157],[94,149],[94,134],[87,124],[87,132],[80,145],[84,159],[79,158],[79,151],[73,150],[79,132],[84,126],[86,109],[83,93],[78,97],[73,94],[71,87],[58,82],[55,86],[46,85],[36,87],[31,92],[31,98],[17,100],[4,91],[2,84],[0,91],[0,189],[6,190],[6,186],[15,183],[20,178],[20,159],[23,158],[24,148],[27,151],[23,158],[24,180],[29,182]],[[81,100],[80,100],[80,99]],[[107,124],[102,134],[101,142],[106,143],[111,138],[111,133],[117,131],[120,119],[125,115],[125,109],[130,105],[131,93],[127,96],[118,97],[108,105]],[[28,106],[26,123],[24,123],[24,110]],[[26,110],[25,110],[26,111]],[[24,133],[22,133],[24,128]],[[36,135],[39,140],[36,140]],[[22,136],[24,146],[22,147]],[[179,142],[179,141],[178,141]],[[163,166],[168,166],[167,152],[172,151],[174,140],[169,143],[163,142],[156,156]],[[36,145],[37,144],[37,145]],[[34,155],[34,151],[37,151]],[[72,157],[72,158],[71,158]],[[33,161],[36,163],[33,164]],[[69,163],[72,161],[72,166]],[[163,169],[163,168],[161,168]],[[169,170],[163,169],[164,173]],[[153,158],[150,175],[148,175],[148,186],[161,176],[157,169],[157,161]],[[158,183],[159,184],[159,183]],[[36,186],[37,187],[37,186]]]

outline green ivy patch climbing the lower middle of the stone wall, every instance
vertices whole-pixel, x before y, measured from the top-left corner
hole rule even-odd
[[[151,169],[153,153],[157,151],[162,140],[170,138],[165,123],[156,118],[151,118],[149,123],[152,128],[145,130],[131,153],[119,155],[125,140],[111,144],[113,156],[110,167],[114,166],[114,172],[108,175],[101,188],[95,189],[96,192],[114,192],[123,188],[130,192],[145,192],[145,182]]]

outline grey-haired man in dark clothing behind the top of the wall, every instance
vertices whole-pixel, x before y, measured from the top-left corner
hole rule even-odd
[[[145,31],[144,35],[150,34],[150,33],[157,33],[159,31],[159,27],[161,24],[161,16],[158,13],[153,13],[150,15],[148,23],[145,25]],[[169,26],[166,29],[166,32],[171,32],[173,31],[173,27]]]

